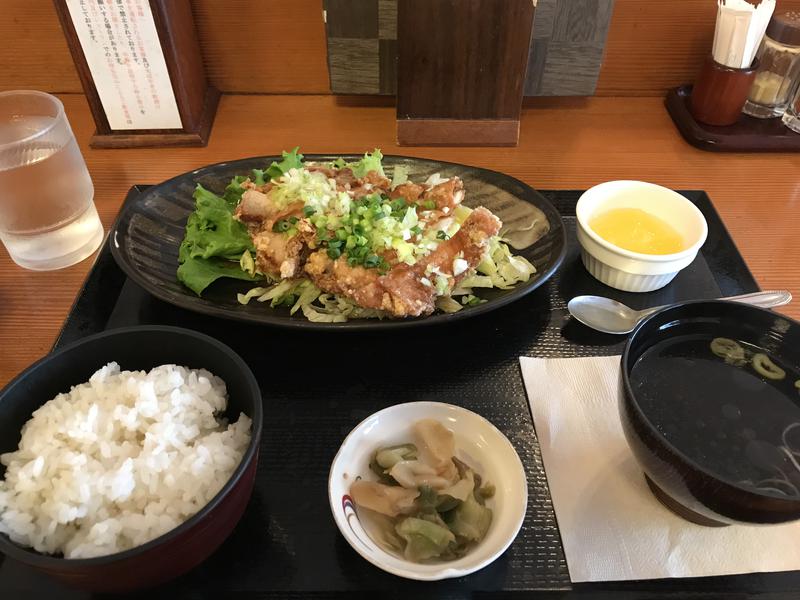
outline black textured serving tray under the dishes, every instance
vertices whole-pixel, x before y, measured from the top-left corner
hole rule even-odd
[[[129,198],[139,188],[132,188]],[[704,192],[683,192],[705,215],[709,237],[697,260],[667,288],[618,292],[580,264],[574,209],[580,192],[544,192],[564,215],[569,252],[547,285],[494,313],[419,330],[335,336],[223,321],[165,304],[127,280],[108,248],[100,253],[56,346],[113,327],[165,323],[204,331],[253,367],[264,393],[261,463],[251,504],[228,541],[203,565],[158,590],[170,598],[505,598],[531,591],[555,597],[796,597],[800,573],[571,585],[519,356],[620,353],[624,340],[570,321],[569,298],[602,294],[644,308],[758,289]],[[309,358],[309,351],[314,351]],[[407,581],[373,567],[339,534],[328,507],[327,476],[350,429],[385,406],[439,400],[472,409],[511,440],[528,476],[522,530],[495,563],[437,583]],[[85,598],[0,557],[0,597]]]

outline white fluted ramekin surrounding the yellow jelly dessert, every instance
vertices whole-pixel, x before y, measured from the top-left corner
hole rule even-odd
[[[675,254],[641,254],[604,240],[589,222],[615,208],[639,208],[663,219],[684,236],[686,249]],[[586,269],[606,285],[626,292],[651,292],[667,285],[691,264],[708,235],[705,217],[694,204],[673,190],[644,181],[596,185],[580,197],[575,214]]]

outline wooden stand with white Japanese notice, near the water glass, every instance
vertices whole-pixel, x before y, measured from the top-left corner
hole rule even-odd
[[[135,148],[145,146],[205,146],[211,133],[211,125],[219,103],[219,91],[208,84],[203,66],[203,58],[200,53],[200,44],[197,39],[197,31],[194,25],[190,0],[53,0],[58,13],[61,27],[67,38],[72,58],[78,70],[86,98],[94,116],[96,132],[92,136],[90,146],[93,148]],[[93,3],[93,4],[90,4]],[[149,12],[146,10],[149,5]],[[99,8],[98,8],[99,6]],[[71,13],[72,11],[72,13]],[[117,11],[117,12],[114,12]],[[120,13],[119,11],[122,11]],[[163,52],[163,63],[166,63],[166,75],[161,80],[159,89],[158,82],[153,83],[149,79],[150,85],[142,85],[142,70],[139,71],[139,80],[131,87],[119,91],[110,89],[108,79],[100,85],[105,85],[104,89],[106,106],[103,102],[103,94],[98,91],[98,83],[95,81],[99,74],[97,63],[93,75],[92,67],[87,61],[86,49],[82,46],[81,37],[76,30],[75,19],[81,19],[88,23],[93,21],[94,27],[92,40],[101,41],[94,44],[94,51],[97,52],[98,46],[103,46],[103,52],[107,52],[108,69],[115,70],[114,82],[119,78],[124,78],[130,71],[127,69],[130,56],[137,52],[141,46],[141,37],[137,40],[130,35],[123,36],[119,32],[129,34],[130,29],[134,28],[131,23],[129,27],[128,17],[148,19],[152,13],[152,21],[157,32],[157,41],[152,40],[150,46],[150,58],[154,65],[161,60],[159,54]],[[121,25],[120,15],[124,20]],[[144,16],[143,16],[144,15]],[[109,21],[116,27],[117,39],[111,44],[111,33],[108,37],[103,37],[104,28],[109,28]],[[141,22],[140,22],[141,23]],[[79,23],[83,25],[83,23]],[[144,23],[147,25],[147,23]],[[144,30],[144,25],[142,29]],[[150,26],[152,27],[152,26]],[[88,35],[84,30],[84,36]],[[84,37],[84,42],[87,42]],[[111,47],[109,47],[111,44]],[[92,46],[92,44],[87,44]],[[128,48],[130,46],[130,49]],[[91,50],[90,50],[91,51]],[[111,52],[114,54],[113,58]],[[125,55],[123,52],[127,52]],[[144,50],[143,50],[144,52]],[[142,56],[146,56],[142,54]],[[95,59],[97,57],[95,56]],[[104,58],[101,58],[104,60]],[[136,66],[142,69],[141,56],[137,55]],[[145,67],[150,75],[150,65],[145,58]],[[106,65],[101,65],[103,69]],[[163,69],[162,69],[163,70]],[[167,81],[168,75],[168,81]],[[134,76],[130,76],[130,81]],[[171,94],[170,94],[171,87]],[[164,93],[166,91],[166,94]],[[159,98],[159,93],[161,97]],[[172,98],[174,94],[174,100]],[[108,104],[109,99],[113,106]],[[152,106],[147,106],[147,103]],[[172,105],[173,118],[170,126],[166,128],[133,128],[134,119],[146,118],[146,113],[153,107],[161,107],[163,104]],[[123,127],[113,128],[107,110],[118,110],[124,105],[126,117],[133,115]],[[175,105],[177,113],[175,113]],[[155,109],[153,109],[155,112]],[[179,119],[178,119],[179,115]],[[119,122],[119,117],[116,118]]]

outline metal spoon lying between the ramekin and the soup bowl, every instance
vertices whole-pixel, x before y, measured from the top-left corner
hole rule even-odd
[[[792,301],[787,291],[756,292],[741,296],[729,296],[720,300],[733,300],[742,304],[752,304],[761,308],[783,306]],[[633,310],[631,307],[602,296],[576,296],[567,305],[569,313],[578,321],[604,333],[619,335],[630,333],[645,317],[666,308],[656,306],[645,310]]]

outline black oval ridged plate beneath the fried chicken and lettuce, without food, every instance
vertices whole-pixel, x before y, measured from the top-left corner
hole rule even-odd
[[[307,161],[334,160],[338,156],[306,155]],[[346,160],[358,156],[344,155]],[[217,280],[198,298],[176,278],[178,247],[183,240],[186,219],[194,210],[192,192],[196,184],[222,194],[234,175],[243,175],[254,168],[264,168],[276,157],[245,158],[202,167],[148,188],[129,201],[117,217],[109,235],[111,253],[117,264],[133,281],[156,298],[195,312],[225,319],[253,323],[299,327],[303,329],[394,329],[435,323],[447,323],[474,317],[518,300],[542,285],[556,271],[566,253],[566,234],[561,215],[544,196],[530,186],[508,175],[456,163],[386,156],[383,164],[391,174],[396,165],[404,165],[413,181],[424,181],[433,173],[443,177],[459,176],[464,181],[467,206],[485,206],[503,221],[522,222],[538,209],[549,223],[549,231],[524,249],[512,248],[536,267],[530,281],[511,290],[478,290],[476,295],[487,302],[465,307],[457,313],[434,313],[415,319],[353,319],[344,323],[312,323],[300,312],[289,315],[286,307],[251,302],[247,306],[236,300],[237,292],[244,293],[253,283],[231,279]]]

